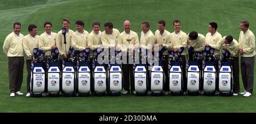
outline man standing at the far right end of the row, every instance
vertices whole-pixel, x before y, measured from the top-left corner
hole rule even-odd
[[[240,93],[249,97],[253,93],[254,83],[254,61],[255,61],[255,36],[249,29],[249,22],[240,23],[239,53],[241,54],[241,74],[245,91]]]

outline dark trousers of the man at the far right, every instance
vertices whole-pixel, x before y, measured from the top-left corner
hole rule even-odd
[[[241,57],[243,87],[250,93],[253,93],[254,59],[255,57]]]

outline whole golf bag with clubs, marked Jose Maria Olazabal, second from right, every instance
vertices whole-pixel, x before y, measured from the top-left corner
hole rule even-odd
[[[216,89],[216,61],[214,57],[214,48],[205,46],[203,52],[205,61],[203,61],[203,91],[204,95],[214,95]]]

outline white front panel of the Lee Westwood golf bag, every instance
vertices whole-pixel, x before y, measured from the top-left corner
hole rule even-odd
[[[106,91],[106,70],[104,66],[96,66],[94,69],[94,91],[100,93]]]

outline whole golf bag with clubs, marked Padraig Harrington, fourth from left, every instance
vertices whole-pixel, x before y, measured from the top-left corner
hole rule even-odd
[[[77,91],[79,96],[89,96],[90,87],[92,83],[90,70],[90,49],[80,51],[79,60],[77,60]]]

